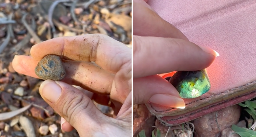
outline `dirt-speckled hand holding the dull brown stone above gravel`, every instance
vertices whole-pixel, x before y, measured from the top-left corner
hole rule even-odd
[[[41,42],[30,53],[31,56],[15,56],[13,67],[18,73],[35,78],[35,67],[45,55],[63,59],[67,76],[62,81],[44,81],[39,92],[62,117],[64,131],[75,128],[81,137],[131,135],[129,47],[106,35],[86,34]],[[101,113],[91,99],[103,105],[108,105],[110,99],[116,117]]]

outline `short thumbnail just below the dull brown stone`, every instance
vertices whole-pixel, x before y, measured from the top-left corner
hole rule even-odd
[[[61,95],[61,87],[54,81],[47,79],[39,87],[41,96],[49,100],[51,103],[55,103]]]

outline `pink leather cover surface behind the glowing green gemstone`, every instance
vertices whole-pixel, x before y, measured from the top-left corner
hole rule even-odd
[[[214,96],[224,96],[221,95],[224,92],[228,94],[256,81],[255,0],[149,0],[148,3],[191,42],[220,54],[207,68],[210,91],[195,99],[185,99],[186,104],[197,107],[202,100],[211,102]],[[155,109],[166,110],[156,105]]]

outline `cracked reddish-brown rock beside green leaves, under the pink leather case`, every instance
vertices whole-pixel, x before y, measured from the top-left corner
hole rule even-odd
[[[194,120],[195,137],[220,137],[222,130],[238,123],[240,111],[239,105],[233,105]]]

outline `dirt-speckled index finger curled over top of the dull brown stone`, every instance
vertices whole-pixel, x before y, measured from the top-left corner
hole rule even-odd
[[[112,73],[131,59],[129,47],[103,34],[53,38],[32,46],[30,53],[35,60],[53,54],[66,60],[93,61]]]

